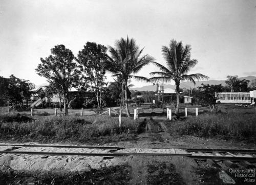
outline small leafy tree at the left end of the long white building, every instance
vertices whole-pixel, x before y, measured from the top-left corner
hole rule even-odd
[[[202,106],[209,106],[210,111],[214,111],[216,101],[218,99],[218,92],[223,91],[223,86],[219,85],[209,85],[202,84],[198,87],[199,93],[196,97],[200,100]]]

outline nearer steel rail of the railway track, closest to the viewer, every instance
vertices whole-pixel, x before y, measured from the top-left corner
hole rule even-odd
[[[256,161],[256,157],[248,156],[219,156],[219,155],[191,155],[191,154],[177,154],[177,153],[79,153],[79,152],[40,152],[40,151],[0,151],[0,153],[10,154],[29,154],[29,155],[80,155],[80,156],[129,156],[129,155],[152,155],[152,156],[186,156],[198,160],[229,160],[229,161]]]

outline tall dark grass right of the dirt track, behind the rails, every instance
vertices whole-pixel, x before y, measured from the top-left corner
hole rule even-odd
[[[256,138],[255,114],[202,114],[185,121],[165,121],[172,134],[224,139]],[[254,140],[255,141],[255,140]]]

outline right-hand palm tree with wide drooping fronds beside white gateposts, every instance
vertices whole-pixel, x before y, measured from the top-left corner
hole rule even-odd
[[[176,40],[171,40],[169,47],[162,46],[162,55],[166,61],[167,67],[153,62],[161,71],[151,72],[151,75],[158,75],[150,78],[152,82],[170,82],[174,81],[176,84],[176,95],[177,95],[177,107],[175,114],[179,114],[180,108],[180,83],[183,81],[190,81],[196,85],[195,80],[201,80],[202,78],[208,78],[200,73],[187,74],[188,71],[195,67],[198,63],[197,60],[190,60],[190,45],[182,45],[182,41],[177,42]]]

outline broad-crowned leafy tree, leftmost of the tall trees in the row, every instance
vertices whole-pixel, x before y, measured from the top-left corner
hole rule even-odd
[[[63,99],[65,115],[68,115],[70,90],[78,83],[77,63],[73,52],[65,45],[56,45],[51,49],[49,57],[40,58],[41,64],[35,69],[37,74],[44,76],[55,93]]]

